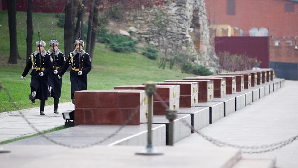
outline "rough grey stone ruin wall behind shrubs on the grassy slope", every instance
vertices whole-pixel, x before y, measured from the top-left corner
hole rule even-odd
[[[156,24],[160,16],[167,18],[164,19],[168,22],[164,31],[159,28],[160,24]],[[209,43],[204,0],[167,0],[163,7],[132,10],[126,14],[126,24],[126,31],[133,38],[166,49],[170,55],[183,50],[191,51],[193,62],[219,72],[218,57]]]

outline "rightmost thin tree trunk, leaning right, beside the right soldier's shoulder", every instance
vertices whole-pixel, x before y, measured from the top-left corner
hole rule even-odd
[[[97,28],[98,28],[98,15],[99,15],[99,5],[100,0],[95,0],[95,6],[93,11],[93,23],[92,23],[92,33],[91,33],[91,42],[90,42],[90,55],[91,59],[93,59],[93,51],[96,43],[96,37],[97,37]]]

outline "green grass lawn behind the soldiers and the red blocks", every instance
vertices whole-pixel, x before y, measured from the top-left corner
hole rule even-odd
[[[63,29],[56,26],[57,18],[53,14],[33,13],[34,36],[37,38],[37,23],[40,22],[41,39],[47,42],[52,39],[51,26],[52,20],[55,26],[56,37],[59,40],[59,47],[63,52]],[[9,32],[7,11],[0,12],[0,38],[2,43],[0,48],[0,81],[2,85],[10,91],[14,101],[21,108],[38,107],[39,101],[31,103],[30,94],[30,74],[25,80],[21,80],[21,74],[25,67],[26,53],[26,13],[17,13],[17,35],[20,56],[17,65],[8,65],[9,55]],[[49,34],[46,34],[49,33]],[[45,38],[44,38],[45,37]],[[34,42],[35,44],[35,42]],[[140,85],[146,81],[163,81],[166,79],[181,79],[183,77],[194,76],[192,74],[183,74],[179,69],[169,70],[158,69],[156,61],[147,59],[138,53],[117,53],[111,51],[102,43],[97,43],[94,50],[93,69],[88,74],[88,89],[113,89],[118,85]],[[69,73],[63,76],[61,101],[70,101],[70,80]],[[49,98],[46,105],[53,104],[53,98]],[[0,113],[3,111],[12,111],[14,109],[8,96],[0,92]]]

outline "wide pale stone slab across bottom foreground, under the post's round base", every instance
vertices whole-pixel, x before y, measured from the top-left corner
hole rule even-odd
[[[240,158],[240,151],[229,147],[158,146],[159,156],[135,155],[144,146],[94,146],[68,149],[61,146],[10,145],[11,153],[1,154],[2,167],[204,167],[231,168]]]

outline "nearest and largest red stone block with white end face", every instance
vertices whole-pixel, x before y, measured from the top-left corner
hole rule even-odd
[[[82,90],[75,92],[74,122],[80,124],[146,123],[148,97],[145,90]]]

